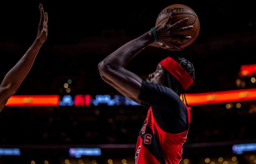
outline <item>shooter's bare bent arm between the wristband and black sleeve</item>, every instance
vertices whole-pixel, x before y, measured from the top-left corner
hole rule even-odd
[[[152,33],[149,31],[124,44],[99,63],[99,71],[132,98],[137,98],[140,94],[142,79],[126,70],[125,66],[138,52],[152,42]]]

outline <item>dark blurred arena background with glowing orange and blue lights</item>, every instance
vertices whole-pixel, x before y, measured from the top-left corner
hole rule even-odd
[[[149,31],[163,8],[191,7],[198,38],[182,51],[146,47],[127,69],[143,79],[177,55],[195,66],[192,123],[181,164],[256,164],[256,14],[240,1],[18,1],[1,4],[0,78],[33,43],[48,12],[48,38],[0,114],[0,164],[134,164],[147,109],[99,76],[98,63]]]

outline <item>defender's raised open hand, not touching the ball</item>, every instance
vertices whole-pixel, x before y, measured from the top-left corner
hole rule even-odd
[[[48,14],[47,12],[44,12],[44,8],[42,4],[39,4],[39,10],[41,13],[40,22],[38,24],[38,31],[37,31],[37,42],[44,43],[47,34],[48,34]]]

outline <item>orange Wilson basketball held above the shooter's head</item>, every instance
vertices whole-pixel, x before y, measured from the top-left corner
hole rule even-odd
[[[181,24],[181,27],[191,26],[191,25],[194,26],[190,30],[178,33],[179,35],[191,36],[190,40],[175,40],[173,42],[179,45],[181,48],[187,47],[188,45],[190,45],[195,41],[200,30],[199,19],[196,13],[191,8],[181,4],[170,5],[160,12],[160,14],[157,17],[157,21],[155,25],[158,26],[158,25],[164,24],[167,21],[170,13],[172,13],[174,10],[176,10],[176,14],[173,16],[173,19],[171,22],[172,24],[188,17],[189,20],[186,23]]]

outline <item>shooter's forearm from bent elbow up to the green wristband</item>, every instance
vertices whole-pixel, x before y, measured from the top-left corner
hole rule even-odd
[[[128,62],[134,56],[136,56],[143,48],[152,42],[152,32],[148,31],[139,38],[136,38],[118,48],[116,51],[102,60],[100,65],[126,67]]]

